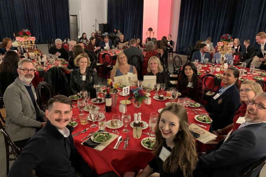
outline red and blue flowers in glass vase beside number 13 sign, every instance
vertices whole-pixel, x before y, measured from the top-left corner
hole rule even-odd
[[[138,87],[136,89],[132,89],[129,92],[129,99],[133,101],[133,105],[137,108],[139,108],[143,102],[143,100],[145,100],[146,98],[148,98],[147,96],[145,96],[145,93],[143,92],[143,90]]]

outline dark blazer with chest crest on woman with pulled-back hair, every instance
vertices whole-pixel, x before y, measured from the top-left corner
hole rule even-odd
[[[219,89],[213,96],[219,93]],[[210,104],[206,106],[206,110],[210,113],[210,118],[213,119],[213,130],[225,128],[227,125],[233,123],[235,112],[241,105],[239,100],[240,95],[236,85],[228,88],[215,100],[213,98],[211,99]]]

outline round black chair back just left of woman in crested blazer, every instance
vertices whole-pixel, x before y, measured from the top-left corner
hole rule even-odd
[[[212,74],[207,74],[201,78],[203,89],[211,92],[216,92],[221,85],[220,80]]]

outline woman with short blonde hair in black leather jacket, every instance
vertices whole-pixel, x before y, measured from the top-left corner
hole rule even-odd
[[[93,85],[98,84],[98,78],[96,72],[89,68],[90,63],[87,54],[82,53],[75,58],[74,64],[79,68],[72,71],[70,75],[70,89],[73,94],[79,93],[80,90],[87,90],[91,97],[96,97]]]

